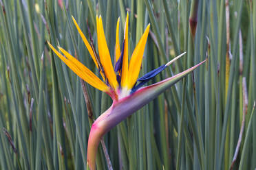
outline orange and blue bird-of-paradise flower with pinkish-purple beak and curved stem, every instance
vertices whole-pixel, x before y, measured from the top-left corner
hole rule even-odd
[[[162,80],[161,82],[151,86],[142,87],[142,85],[146,84],[151,78],[155,77],[158,73],[169,66],[169,64],[180,58],[180,56],[182,56],[184,53],[171,60],[171,62],[160,66],[158,69],[150,71],[138,79],[150,25],[147,25],[144,34],[136,45],[134,52],[131,54],[131,60],[128,64],[129,14],[127,13],[122,49],[120,49],[119,42],[120,19],[118,19],[116,25],[115,66],[113,67],[105,39],[101,16],[96,17],[99,57],[93,45],[90,45],[85,38],[85,35],[76,23],[76,20],[73,17],[72,19],[76,25],[76,28],[78,29],[79,34],[83,38],[83,42],[85,43],[92,60],[94,60],[96,67],[100,71],[100,75],[102,77],[101,80],[94,73],[92,73],[92,71],[87,69],[86,66],[76,60],[76,58],[74,58],[70,53],[65,51],[65,49],[58,47],[58,49],[64,54],[63,56],[63,54],[54,49],[49,42],[48,44],[54,53],[56,53],[56,55],[61,58],[61,60],[63,60],[63,62],[65,62],[65,64],[67,64],[67,66],[69,66],[70,69],[76,73],[76,75],[81,77],[91,86],[94,86],[94,88],[98,88],[98,90],[107,93],[111,99],[113,99],[113,104],[111,107],[101,114],[96,121],[94,121],[89,134],[87,146],[87,164],[89,165],[90,169],[94,170],[98,144],[100,142],[100,138],[102,138],[106,132],[111,130],[112,127],[115,127],[121,121],[125,120],[127,117],[129,117],[129,115],[136,112],[136,110],[139,110],[148,104],[149,101],[155,99],[158,95],[160,95],[160,93],[164,92],[164,90],[178,82],[178,80],[182,79],[182,77],[193,71],[203,62],[191,67],[186,71],[183,71],[182,73],[179,73],[178,75],[169,77],[166,80]]]

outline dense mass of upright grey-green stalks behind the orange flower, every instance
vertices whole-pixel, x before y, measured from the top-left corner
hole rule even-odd
[[[114,57],[116,21],[120,16],[123,30],[127,11],[129,51],[151,23],[141,74],[187,51],[150,83],[209,60],[105,135],[113,169],[256,168],[255,1],[0,0],[0,5],[1,169],[86,169],[89,120],[107,110],[111,99],[81,82],[46,41],[98,73],[71,16],[87,38],[89,27],[96,46],[96,14],[101,15]],[[108,169],[99,148],[96,167]]]

